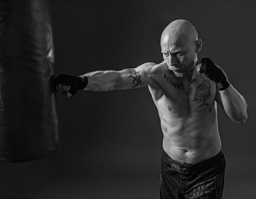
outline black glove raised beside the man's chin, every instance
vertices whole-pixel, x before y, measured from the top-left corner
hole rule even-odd
[[[219,90],[225,90],[229,87],[226,74],[210,58],[203,58],[201,64],[199,72],[204,73],[207,78],[214,81]]]

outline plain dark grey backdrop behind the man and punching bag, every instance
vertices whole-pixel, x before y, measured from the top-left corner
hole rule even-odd
[[[183,18],[248,103],[233,123],[218,107],[226,156],[224,198],[255,198],[253,1],[53,2],[55,73],[80,75],[161,62],[164,27]],[[1,162],[1,198],[159,198],[162,134],[147,87],[58,95],[61,150],[29,163]]]

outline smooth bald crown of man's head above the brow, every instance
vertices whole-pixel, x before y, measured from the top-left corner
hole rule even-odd
[[[170,22],[161,35],[161,45],[172,45],[184,42],[194,43],[196,40],[198,40],[196,28],[191,22],[185,19]]]

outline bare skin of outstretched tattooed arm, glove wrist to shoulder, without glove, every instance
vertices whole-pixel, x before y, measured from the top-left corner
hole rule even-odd
[[[144,63],[136,68],[120,71],[93,71],[83,74],[82,76],[88,78],[88,85],[83,90],[110,91],[147,86],[153,83],[154,65],[156,64]]]

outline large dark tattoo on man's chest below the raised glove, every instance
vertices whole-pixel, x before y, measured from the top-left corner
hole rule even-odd
[[[209,106],[208,100],[210,99],[210,96],[210,81],[204,80],[203,83],[197,86],[193,102],[200,104],[199,107]]]

